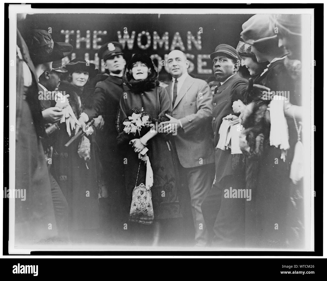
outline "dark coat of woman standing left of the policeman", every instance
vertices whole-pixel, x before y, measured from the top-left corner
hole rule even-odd
[[[69,104],[78,118],[83,108],[92,105],[92,87],[81,88],[67,81],[60,82],[59,91],[69,94]],[[81,105],[78,97],[80,97]],[[85,162],[77,149],[79,140],[68,148],[64,144],[70,140],[66,132],[66,123],[60,124],[57,139],[53,145],[53,174],[64,194],[69,208],[69,226],[72,230],[99,228],[98,183],[97,183],[97,148],[94,134],[89,136],[91,142],[91,159]],[[72,132],[72,136],[74,132]]]

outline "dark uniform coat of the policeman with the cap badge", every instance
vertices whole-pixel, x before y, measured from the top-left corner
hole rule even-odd
[[[122,95],[122,78],[107,76],[95,86],[92,108],[84,110],[90,118],[102,115],[104,119],[103,129],[96,130],[95,134],[100,160],[99,196],[106,198],[108,206],[108,209],[103,211],[103,223],[110,229],[116,228],[118,233],[123,230],[121,225],[129,211],[124,208],[126,207],[124,157],[122,151],[117,148],[116,118]]]

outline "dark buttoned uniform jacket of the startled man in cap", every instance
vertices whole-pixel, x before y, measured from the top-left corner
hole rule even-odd
[[[215,91],[213,98],[214,109],[212,119],[212,129],[215,135],[215,166],[216,166],[216,181],[219,182],[224,176],[239,175],[243,173],[242,163],[244,161],[243,154],[231,154],[230,149],[221,150],[216,148],[219,141],[219,128],[222,123],[222,118],[229,114],[234,114],[232,105],[235,100],[245,100],[248,80],[241,78],[235,74],[228,79],[224,84],[219,86]],[[233,159],[232,159],[233,158]],[[244,163],[243,163],[244,164]]]

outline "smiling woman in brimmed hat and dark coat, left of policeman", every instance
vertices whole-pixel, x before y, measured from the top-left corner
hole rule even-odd
[[[60,82],[58,90],[63,95],[70,95],[69,104],[78,119],[84,107],[92,106],[94,86],[89,80],[95,77],[98,70],[95,64],[81,59],[70,61],[65,68],[68,76]],[[64,144],[74,135],[74,129],[70,129],[71,136],[66,123],[61,123],[53,146],[55,174],[69,206],[70,230],[98,229],[98,161],[93,128],[87,130],[87,136],[77,139],[66,148]]]

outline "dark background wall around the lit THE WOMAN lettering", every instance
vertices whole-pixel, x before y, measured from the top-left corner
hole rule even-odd
[[[69,43],[74,46],[73,56],[90,59],[91,62],[99,65],[100,62],[96,56],[102,44],[109,41],[119,41],[117,31],[124,35],[124,28],[131,36],[132,31],[135,31],[135,40],[132,49],[125,46],[124,52],[126,59],[135,53],[146,53],[148,55],[158,55],[164,60],[164,55],[168,54],[171,49],[173,37],[176,32],[179,32],[181,40],[185,47],[185,53],[189,54],[189,60],[194,64],[194,69],[191,74],[196,78],[207,79],[212,68],[210,59],[203,59],[201,55],[210,55],[218,44],[229,44],[236,48],[240,39],[242,31],[242,24],[247,21],[252,14],[205,14],[205,15],[190,15],[190,14],[33,14],[27,15],[24,25],[18,25],[23,36],[28,36],[30,29],[44,29],[49,30],[51,27],[51,34],[54,41],[64,42],[65,34],[62,30],[74,30],[74,34],[69,37]],[[198,50],[193,43],[191,43],[191,50],[187,49],[187,32],[190,31],[193,36],[197,36],[197,32],[202,27],[201,35],[201,50]],[[76,43],[77,30],[80,31],[80,37],[87,36],[87,30],[90,31],[91,44],[89,48],[85,42],[81,42],[78,46]],[[106,34],[98,35],[101,41],[96,43],[96,48],[93,46],[94,31],[106,31]],[[149,32],[151,36],[151,44],[146,50],[141,49],[137,45],[137,35],[142,31]],[[153,48],[153,32],[156,31],[160,38],[165,32],[169,36],[169,50],[164,47],[157,49]],[[67,39],[68,40],[68,39]],[[146,44],[146,36],[142,36],[141,43]],[[85,53],[88,53],[85,57]],[[199,57],[200,55],[200,57]],[[193,57],[194,56],[194,57]],[[71,55],[68,59],[71,59]],[[66,60],[68,60],[66,59]],[[198,59],[201,59],[204,64],[202,69],[198,71]],[[156,59],[154,59],[157,62]],[[157,62],[158,63],[158,62]],[[161,63],[160,63],[161,64]],[[102,71],[104,71],[103,65]],[[206,71],[207,70],[207,71]],[[248,76],[248,71],[241,67],[240,74]],[[170,76],[162,67],[160,71],[160,79],[170,79]]]

